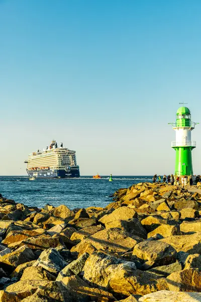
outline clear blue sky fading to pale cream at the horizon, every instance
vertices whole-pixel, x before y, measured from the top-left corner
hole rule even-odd
[[[199,0],[0,0],[0,174],[26,175],[53,138],[81,175],[174,172],[167,123],[179,102],[201,121],[200,14]]]

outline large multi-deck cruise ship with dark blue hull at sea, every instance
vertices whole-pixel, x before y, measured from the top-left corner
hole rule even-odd
[[[31,153],[25,163],[30,177],[77,178],[80,176],[75,151],[63,147],[63,143],[58,146],[56,140],[52,140],[43,151],[37,150]]]

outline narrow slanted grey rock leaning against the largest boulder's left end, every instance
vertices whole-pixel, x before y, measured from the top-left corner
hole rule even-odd
[[[60,271],[60,273],[57,276],[56,281],[61,281],[64,277],[70,277],[72,275],[78,275],[81,273],[84,264],[86,262],[86,259],[89,257],[88,253],[82,254],[79,258],[72,261],[70,264],[68,264],[64,269]]]

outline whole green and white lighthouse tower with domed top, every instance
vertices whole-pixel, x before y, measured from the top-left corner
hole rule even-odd
[[[197,123],[191,122],[190,110],[179,107],[176,112],[176,123],[171,123],[176,132],[176,140],[172,141],[172,148],[176,151],[175,175],[192,175],[192,149],[196,142],[191,140],[191,131]]]

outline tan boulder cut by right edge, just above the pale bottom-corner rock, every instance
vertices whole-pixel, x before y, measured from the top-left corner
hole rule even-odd
[[[189,268],[174,272],[167,277],[169,290],[201,291],[201,273],[197,268]]]

